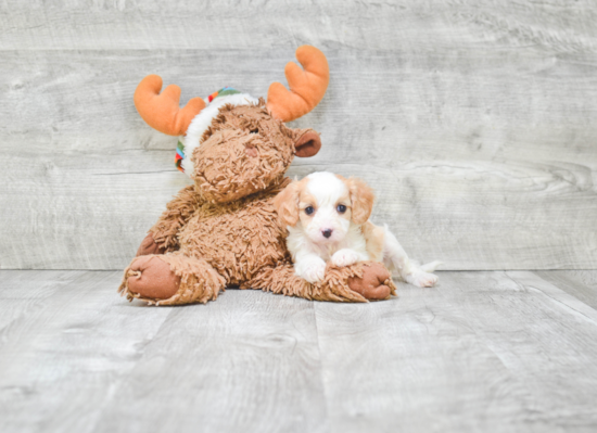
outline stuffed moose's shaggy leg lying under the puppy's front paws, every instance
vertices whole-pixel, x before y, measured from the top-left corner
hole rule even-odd
[[[328,265],[321,283],[309,284],[296,276],[291,264],[262,270],[241,289],[263,289],[287,296],[314,301],[367,302],[395,294],[390,271],[379,263],[365,262],[347,267]]]

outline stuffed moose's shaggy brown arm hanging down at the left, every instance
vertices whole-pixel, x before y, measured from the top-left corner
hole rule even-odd
[[[137,256],[164,254],[178,250],[178,231],[200,205],[201,201],[192,184],[182,189],[166,205],[166,211],[150,229],[137,251]]]

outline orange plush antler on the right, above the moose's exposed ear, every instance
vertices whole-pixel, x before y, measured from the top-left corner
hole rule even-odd
[[[296,60],[305,71],[294,62],[287,63],[284,74],[290,91],[280,82],[272,82],[267,92],[267,107],[283,122],[294,120],[315,109],[330,81],[328,61],[317,48],[298,47]]]

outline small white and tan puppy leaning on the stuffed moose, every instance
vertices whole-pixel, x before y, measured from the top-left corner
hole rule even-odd
[[[288,229],[287,246],[297,276],[321,281],[326,262],[350,266],[357,262],[383,262],[406,282],[432,286],[432,272],[441,264],[412,264],[388,227],[369,221],[373,191],[363,180],[314,173],[293,181],[275,199],[280,222]]]

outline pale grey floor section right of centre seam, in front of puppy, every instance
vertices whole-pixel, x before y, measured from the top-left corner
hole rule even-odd
[[[315,305],[333,431],[597,426],[597,311],[532,272],[441,272],[388,303]]]

